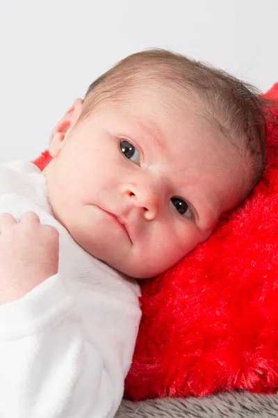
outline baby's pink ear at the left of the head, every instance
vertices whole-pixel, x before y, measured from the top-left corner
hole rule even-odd
[[[72,127],[78,121],[83,108],[83,100],[76,99],[74,104],[65,113],[65,116],[57,123],[51,135],[51,142],[49,145],[49,154],[51,157],[58,157],[62,142],[67,132],[70,132]]]

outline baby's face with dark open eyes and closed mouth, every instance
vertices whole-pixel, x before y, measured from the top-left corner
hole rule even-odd
[[[54,137],[44,170],[54,214],[92,256],[153,277],[236,205],[239,157],[219,148],[208,124],[156,98],[99,110]]]

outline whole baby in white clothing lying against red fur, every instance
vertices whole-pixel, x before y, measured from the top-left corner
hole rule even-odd
[[[140,321],[133,278],[177,263],[258,183],[262,106],[224,72],[141,52],[74,102],[42,173],[1,165],[1,417],[115,415]]]

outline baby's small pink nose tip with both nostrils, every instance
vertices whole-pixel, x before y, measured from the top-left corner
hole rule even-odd
[[[154,185],[136,185],[129,183],[122,189],[132,204],[142,208],[142,215],[147,221],[152,221],[158,214],[158,190]]]

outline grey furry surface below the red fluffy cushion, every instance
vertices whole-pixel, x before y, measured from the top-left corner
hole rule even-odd
[[[122,401],[117,418],[278,418],[278,394],[222,393],[205,398]]]

